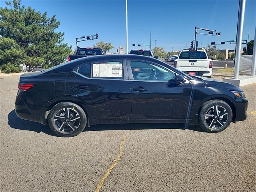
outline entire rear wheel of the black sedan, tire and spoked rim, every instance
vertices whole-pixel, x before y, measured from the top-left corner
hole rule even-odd
[[[87,116],[84,110],[72,102],[56,104],[49,114],[49,126],[61,137],[74,137],[84,130]]]

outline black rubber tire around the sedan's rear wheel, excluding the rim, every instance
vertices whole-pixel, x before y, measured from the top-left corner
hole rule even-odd
[[[55,124],[54,124],[54,116],[56,115],[56,112],[58,112],[59,110],[61,110],[62,108],[65,108],[65,107],[68,107],[68,108],[75,108],[76,111],[79,113],[79,116],[80,116],[80,125],[78,126],[78,128],[75,130],[75,131],[72,131],[72,132],[62,132],[60,130],[58,130],[56,127],[55,127]],[[51,130],[57,134],[58,136],[61,136],[61,137],[74,137],[74,136],[77,136],[80,132],[82,132],[84,130],[84,128],[86,127],[86,124],[87,124],[87,116],[84,112],[84,110],[78,106],[77,104],[74,104],[72,102],[61,102],[61,103],[58,103],[56,104],[50,111],[50,114],[48,115],[48,122],[49,122],[49,126],[51,128]]]

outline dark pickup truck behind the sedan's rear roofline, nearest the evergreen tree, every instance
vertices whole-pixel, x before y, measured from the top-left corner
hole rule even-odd
[[[68,56],[68,61],[82,58],[82,57],[88,57],[93,55],[104,55],[104,51],[100,48],[77,48],[75,55]]]

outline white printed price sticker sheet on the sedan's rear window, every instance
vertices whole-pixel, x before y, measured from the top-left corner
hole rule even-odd
[[[122,77],[122,64],[93,64],[94,77]]]

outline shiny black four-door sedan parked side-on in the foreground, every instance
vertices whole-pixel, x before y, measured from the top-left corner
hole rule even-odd
[[[16,114],[49,123],[63,137],[86,125],[153,122],[220,132],[247,118],[248,100],[239,87],[132,54],[90,56],[25,73],[18,88]]]

